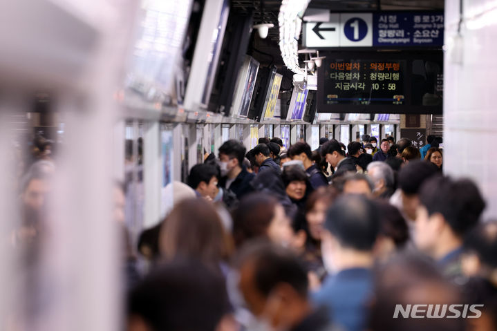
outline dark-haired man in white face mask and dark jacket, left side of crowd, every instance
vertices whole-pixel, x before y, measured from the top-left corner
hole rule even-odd
[[[243,166],[245,151],[245,146],[234,139],[228,140],[219,147],[219,167],[222,177],[219,186],[235,193],[238,200],[252,192],[250,182],[255,177],[254,173],[249,173]]]

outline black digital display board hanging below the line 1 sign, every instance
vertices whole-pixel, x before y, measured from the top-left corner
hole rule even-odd
[[[330,53],[317,92],[319,113],[441,114],[442,51]]]

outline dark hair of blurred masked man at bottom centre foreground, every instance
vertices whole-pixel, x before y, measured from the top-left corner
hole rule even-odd
[[[253,243],[242,250],[237,265],[252,263],[254,285],[268,297],[274,288],[285,283],[302,298],[308,296],[308,276],[302,262],[289,249],[268,242]]]

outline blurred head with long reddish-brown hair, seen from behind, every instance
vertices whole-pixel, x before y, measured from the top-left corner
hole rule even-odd
[[[182,200],[165,218],[159,249],[165,261],[180,256],[217,265],[229,256],[231,245],[214,205],[196,198]]]

